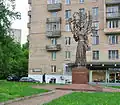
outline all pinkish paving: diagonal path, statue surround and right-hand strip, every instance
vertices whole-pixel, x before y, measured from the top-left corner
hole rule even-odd
[[[89,85],[82,85],[82,84],[81,85],[77,85],[77,84],[73,84],[73,85],[38,85],[38,86],[34,86],[33,88],[54,90],[54,92],[52,92],[50,94],[46,94],[46,95],[40,95],[37,97],[13,102],[11,104],[5,104],[5,105],[43,105],[44,103],[48,103],[48,102],[50,102],[54,99],[57,99],[61,96],[72,93],[71,90],[56,90],[56,88],[66,88],[66,87],[70,88],[70,89],[71,88],[86,89],[85,91],[87,91],[87,89],[90,88]],[[102,91],[120,92],[120,89],[112,89],[112,88],[107,87],[107,88],[102,88]]]

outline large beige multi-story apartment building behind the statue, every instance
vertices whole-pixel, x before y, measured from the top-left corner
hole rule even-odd
[[[89,82],[120,79],[120,0],[29,0],[28,76],[71,81],[77,43],[67,20],[76,11],[91,11],[96,31],[89,35]],[[81,79],[81,78],[80,78]]]

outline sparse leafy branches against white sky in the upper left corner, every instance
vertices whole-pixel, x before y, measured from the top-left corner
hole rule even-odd
[[[0,0],[0,41],[8,34],[12,21],[20,19],[14,9],[15,0]]]

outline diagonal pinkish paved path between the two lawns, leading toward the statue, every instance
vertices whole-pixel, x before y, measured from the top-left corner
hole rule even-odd
[[[13,102],[11,104],[6,104],[6,105],[43,105],[44,103],[48,103],[48,102],[52,101],[53,99],[57,99],[63,95],[69,94],[71,92],[72,91],[55,90],[55,93],[52,93],[49,95],[34,97],[31,99]]]

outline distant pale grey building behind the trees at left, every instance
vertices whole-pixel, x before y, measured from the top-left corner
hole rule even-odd
[[[10,36],[13,38],[14,42],[21,44],[21,29],[11,29]]]

